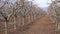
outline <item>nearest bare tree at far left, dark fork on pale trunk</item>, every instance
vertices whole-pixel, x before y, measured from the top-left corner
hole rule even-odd
[[[14,6],[15,4],[9,2],[9,0],[6,0],[3,3],[4,4],[0,7],[0,14],[5,19],[5,34],[8,34],[8,21],[13,15],[15,15],[16,10],[20,7],[16,8],[16,6]]]

